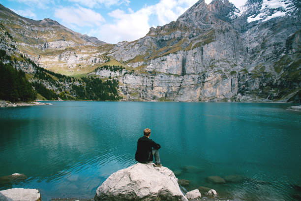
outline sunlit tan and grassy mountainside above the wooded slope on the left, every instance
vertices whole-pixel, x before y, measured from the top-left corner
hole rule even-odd
[[[111,45],[82,35],[51,19],[32,20],[0,4],[0,23],[17,42],[21,53],[36,64],[62,74],[83,74],[105,59],[99,51]]]

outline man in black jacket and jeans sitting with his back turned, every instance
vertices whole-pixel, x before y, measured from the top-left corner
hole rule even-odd
[[[149,138],[151,129],[145,129],[143,133],[144,136],[140,137],[137,142],[137,151],[135,154],[136,161],[139,163],[152,163],[154,155],[155,163],[153,166],[162,167],[159,156],[160,144],[155,143]]]

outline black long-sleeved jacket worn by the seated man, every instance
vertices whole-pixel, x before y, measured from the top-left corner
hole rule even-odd
[[[140,163],[146,163],[152,161],[152,150],[160,149],[160,145],[149,139],[147,136],[140,137],[137,142],[137,151],[135,154],[136,161]]]

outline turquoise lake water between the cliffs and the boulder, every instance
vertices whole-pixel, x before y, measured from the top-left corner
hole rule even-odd
[[[301,185],[301,112],[290,104],[52,101],[0,108],[0,190],[38,188],[42,201],[92,198],[113,172],[135,164],[145,128],[163,166],[220,199],[295,201]],[[214,184],[209,176],[240,175]],[[295,188],[294,188],[295,187]]]

